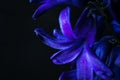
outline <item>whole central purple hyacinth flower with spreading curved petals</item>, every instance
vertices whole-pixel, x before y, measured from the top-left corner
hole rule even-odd
[[[100,78],[108,80],[112,75],[110,69],[93,55],[91,47],[95,40],[96,26],[94,18],[86,8],[72,29],[70,8],[62,10],[59,16],[60,31],[54,29],[50,36],[41,28],[36,34],[48,46],[59,49],[51,56],[53,63],[62,65],[76,60],[76,70],[63,72],[59,80],[93,80],[93,72]]]

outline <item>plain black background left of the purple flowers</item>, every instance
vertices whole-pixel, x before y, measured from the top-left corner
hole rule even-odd
[[[37,27],[48,32],[58,27],[58,15],[65,6],[53,8],[34,21],[32,14],[37,7],[28,0],[0,2],[0,80],[57,80],[65,69],[51,62],[56,50],[40,42],[34,33]]]

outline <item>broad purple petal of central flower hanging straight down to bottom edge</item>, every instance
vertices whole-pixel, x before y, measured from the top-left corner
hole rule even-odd
[[[77,80],[93,80],[93,68],[88,57],[87,53],[83,51],[77,60]]]

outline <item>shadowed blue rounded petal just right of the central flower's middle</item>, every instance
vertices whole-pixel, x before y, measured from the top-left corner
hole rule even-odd
[[[112,38],[112,36],[104,36],[94,44],[95,53],[102,61],[106,61],[107,56],[110,54],[112,45],[109,43],[109,40]]]

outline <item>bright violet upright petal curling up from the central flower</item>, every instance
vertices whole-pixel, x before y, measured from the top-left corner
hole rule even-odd
[[[72,31],[71,23],[70,23],[70,8],[67,7],[61,11],[59,15],[59,24],[62,33],[69,39],[74,39],[75,34]]]

